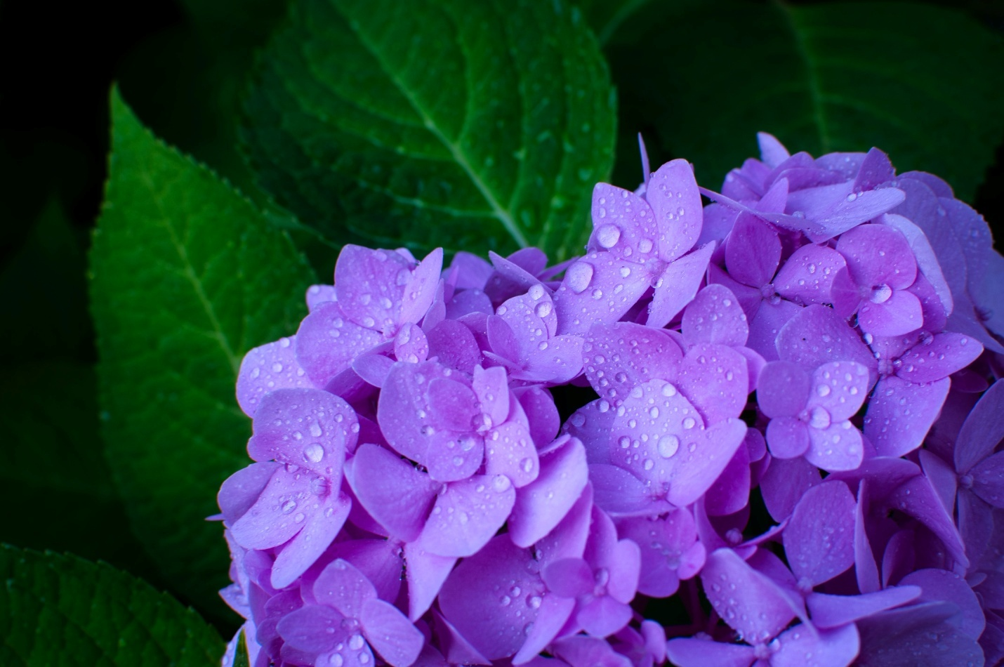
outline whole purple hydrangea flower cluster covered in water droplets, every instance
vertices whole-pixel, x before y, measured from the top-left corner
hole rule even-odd
[[[555,266],[343,248],[240,370],[254,665],[1004,659],[1004,259],[930,174],[759,140],[597,185]]]

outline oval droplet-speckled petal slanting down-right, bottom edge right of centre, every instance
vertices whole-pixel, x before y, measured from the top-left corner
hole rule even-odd
[[[722,620],[749,641],[766,643],[795,618],[781,589],[732,549],[708,555],[701,583]]]

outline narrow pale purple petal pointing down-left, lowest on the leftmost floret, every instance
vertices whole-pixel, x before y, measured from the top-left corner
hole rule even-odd
[[[303,529],[282,547],[272,566],[272,588],[284,589],[317,562],[321,553],[341,530],[352,501],[343,493],[328,495],[323,500],[313,500]],[[301,509],[306,509],[300,506]],[[296,520],[296,514],[293,520]]]

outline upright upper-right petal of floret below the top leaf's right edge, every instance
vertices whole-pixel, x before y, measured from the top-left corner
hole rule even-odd
[[[701,193],[694,169],[686,160],[660,167],[646,190],[659,225],[659,258],[673,261],[694,247],[701,235]]]

